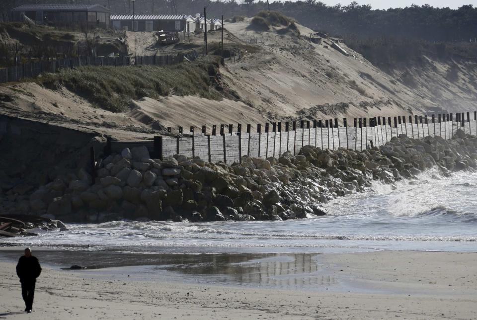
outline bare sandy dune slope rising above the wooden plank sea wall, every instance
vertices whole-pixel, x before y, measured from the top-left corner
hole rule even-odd
[[[129,108],[127,102],[125,111],[112,113],[81,92],[25,82],[0,87],[0,94],[7,97],[2,112],[100,133],[112,130],[114,136],[121,136],[122,130],[134,132],[132,136],[140,132],[144,137],[168,126],[352,119],[439,112],[439,108],[467,111],[475,101],[473,62],[424,57],[419,66],[396,64],[385,73],[345,43],[339,43],[340,51],[333,47],[335,40],[307,40],[313,30],[298,23],[300,37],[298,32],[282,32],[282,27],[255,32],[247,29],[249,24],[247,18],[226,23],[225,46],[240,48],[241,54],[240,59],[225,58],[217,74],[205,75],[217,100],[180,96],[181,88],[173,88],[158,99],[131,97]],[[168,46],[155,45],[152,32],[128,32],[125,40],[130,53],[141,55],[200,51],[203,45],[203,35],[195,34]],[[209,51],[216,53],[221,32],[210,32],[208,40]],[[171,77],[176,75],[171,72]]]

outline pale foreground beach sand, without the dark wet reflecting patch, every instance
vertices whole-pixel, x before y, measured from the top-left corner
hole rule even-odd
[[[24,307],[16,263],[1,259],[0,319],[477,317],[476,253],[320,254],[318,270],[295,275],[292,278],[298,285],[287,290],[247,283],[207,285],[199,281],[201,275],[197,275],[197,283],[190,277],[181,281],[180,275],[148,274],[144,266],[78,271],[44,267],[31,315],[21,312]],[[303,283],[320,281],[314,290],[310,286],[302,290],[297,279]]]

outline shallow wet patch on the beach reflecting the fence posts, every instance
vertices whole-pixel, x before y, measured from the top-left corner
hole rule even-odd
[[[334,277],[323,272],[318,262],[321,255],[316,253],[137,254],[38,250],[35,255],[42,263],[60,268],[72,265],[85,266],[87,270],[127,267],[131,277],[137,272],[138,279],[147,274],[149,278],[165,276],[186,282],[312,290],[335,284]],[[17,259],[17,256],[15,251],[0,252],[2,258]]]

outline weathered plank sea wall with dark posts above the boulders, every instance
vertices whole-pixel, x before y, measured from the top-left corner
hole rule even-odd
[[[191,137],[157,136],[154,141],[112,142],[108,138],[105,153],[120,153],[124,148],[146,146],[151,156],[157,159],[172,157],[175,154],[187,157],[200,157],[209,162],[223,161],[225,163],[239,162],[242,156],[268,158],[280,157],[290,151],[297,155],[303,146],[311,145],[321,149],[336,150],[345,148],[362,151],[372,146],[385,145],[393,137],[406,134],[410,138],[422,139],[427,136],[440,136],[450,139],[458,129],[465,133],[477,135],[477,111],[471,120],[471,113],[438,114],[431,116],[402,116],[402,117],[373,117],[357,118],[353,123],[343,119],[343,126],[338,126],[337,119],[300,121],[292,123],[247,125],[242,132],[242,125],[233,132],[233,125],[222,125],[220,134],[216,126],[212,134],[206,134],[206,126],[200,133],[191,127]],[[270,126],[269,126],[270,125]],[[182,127],[179,133],[182,133]],[[282,130],[284,129],[284,130]],[[172,128],[168,127],[168,132]]]

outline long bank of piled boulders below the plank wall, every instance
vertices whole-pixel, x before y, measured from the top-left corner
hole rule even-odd
[[[401,135],[379,149],[305,146],[297,156],[244,156],[232,165],[180,155],[151,159],[136,147],[98,161],[94,180],[81,169],[41,186],[30,194],[29,208],[70,222],[307,218],[325,214],[321,203],[363,191],[373,180],[393,183],[432,166],[443,174],[475,168],[476,150],[477,138],[460,130],[451,140]]]

